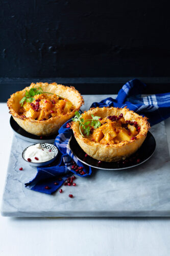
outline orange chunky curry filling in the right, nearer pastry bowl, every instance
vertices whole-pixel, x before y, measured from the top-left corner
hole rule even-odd
[[[100,118],[99,121],[101,126],[97,129],[90,127],[90,134],[85,137],[101,144],[118,144],[121,141],[135,140],[140,132],[137,122],[125,120],[123,114]]]

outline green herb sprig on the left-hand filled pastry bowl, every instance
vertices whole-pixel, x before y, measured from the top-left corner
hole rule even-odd
[[[30,91],[26,91],[25,96],[19,101],[19,103],[21,104],[21,106],[23,106],[23,103],[26,102],[32,102],[33,100],[35,100],[34,96],[35,95],[39,95],[39,94],[43,94],[43,93],[48,93],[48,92],[43,92],[42,88],[31,88]],[[49,94],[53,94],[53,93],[49,93]],[[61,96],[57,95],[58,97],[62,98]]]

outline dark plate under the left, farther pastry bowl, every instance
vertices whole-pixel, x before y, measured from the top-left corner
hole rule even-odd
[[[11,128],[14,132],[14,134],[19,137],[20,139],[26,140],[26,141],[30,141],[30,142],[34,142],[34,143],[42,143],[42,142],[46,142],[46,143],[54,143],[55,138],[57,136],[56,135],[51,135],[51,136],[42,136],[42,139],[40,139],[40,136],[31,134],[26,132],[25,130],[23,130],[18,124],[17,122],[15,122],[15,120],[13,119],[13,117],[11,116],[10,118],[10,125]]]

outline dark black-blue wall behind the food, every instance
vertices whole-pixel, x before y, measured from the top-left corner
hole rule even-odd
[[[168,1],[0,3],[6,96],[40,80],[75,85],[86,94],[117,93],[134,77],[148,82],[149,93],[169,91]]]

